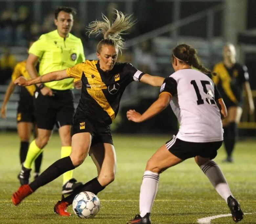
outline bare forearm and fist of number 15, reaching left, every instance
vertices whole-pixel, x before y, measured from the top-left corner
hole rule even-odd
[[[170,93],[163,92],[162,94],[160,94],[159,98],[143,114],[140,114],[135,110],[127,111],[127,119],[129,121],[139,123],[151,117],[154,117],[169,105],[171,99],[172,95]]]

